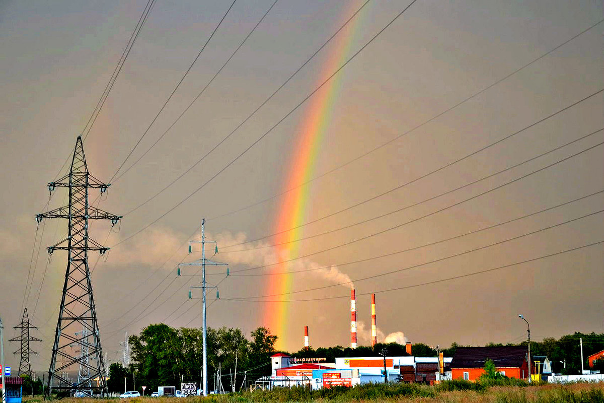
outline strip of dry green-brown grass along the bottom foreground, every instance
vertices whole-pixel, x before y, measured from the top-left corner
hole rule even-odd
[[[95,403],[95,399],[64,398],[62,403]],[[41,397],[24,403],[42,403]],[[324,389],[279,388],[266,392],[242,392],[182,398],[131,398],[128,403],[246,403],[246,402],[400,402],[400,403],[604,403],[604,382],[569,385],[487,386],[449,382],[434,387],[414,384],[362,385]]]

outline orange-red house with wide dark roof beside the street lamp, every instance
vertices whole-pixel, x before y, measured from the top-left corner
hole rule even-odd
[[[451,360],[451,378],[475,381],[484,373],[484,363],[491,359],[496,370],[508,378],[528,377],[525,347],[458,347]]]

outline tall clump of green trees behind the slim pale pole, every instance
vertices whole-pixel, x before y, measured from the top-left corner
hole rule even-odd
[[[224,390],[239,390],[245,375],[254,381],[270,375],[269,357],[275,350],[277,336],[259,327],[251,332],[251,340],[240,329],[208,328],[208,386],[217,378]],[[165,324],[145,327],[140,335],[129,338],[130,367],[119,363],[109,367],[110,392],[127,390],[156,391],[158,386],[178,386],[182,381],[201,381],[202,332]],[[218,372],[222,376],[218,376]],[[136,386],[136,387],[134,387]]]

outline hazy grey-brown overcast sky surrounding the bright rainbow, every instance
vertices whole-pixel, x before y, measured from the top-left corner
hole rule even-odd
[[[178,118],[272,2],[236,1],[124,167]],[[43,340],[33,345],[39,352],[34,370],[48,369],[66,266],[65,253],[57,251],[48,262],[45,250],[62,239],[66,222],[36,227],[34,214],[65,204],[66,193],[57,190],[45,207],[47,184],[72,153],[145,4],[0,2],[0,315],[7,340],[27,306],[39,327],[33,335]],[[102,181],[114,175],[229,4],[156,2],[86,138],[92,175]],[[345,32],[350,49],[341,62],[407,4],[368,2],[354,29]],[[160,321],[200,326],[199,299],[187,300],[199,277],[176,278],[175,266],[199,257],[187,256],[187,240],[199,237],[202,218],[208,219],[208,236],[219,241],[214,259],[230,263],[233,274],[276,261],[271,234],[283,198],[277,195],[286,190],[312,98],[179,202],[331,74],[330,57],[343,52],[337,37],[205,160],[130,211],[233,131],[361,5],[277,1],[181,120],[132,169],[118,174],[99,207],[124,215],[121,225],[110,232],[95,222],[90,229],[92,238],[112,247],[106,260],[95,265],[97,254],[91,253],[90,261],[101,341],[111,361],[120,356],[125,331],[136,334]],[[304,325],[313,347],[349,345],[350,285],[337,285],[342,278],[352,279],[359,294],[358,320],[365,327],[360,344],[369,344],[371,292],[377,294],[382,340],[391,335],[403,341],[402,332],[412,343],[432,346],[519,342],[525,337],[520,313],[535,340],[604,332],[604,248],[597,243],[604,241],[604,213],[598,213],[604,193],[597,193],[604,190],[602,18],[601,1],[419,0],[334,77],[326,134],[313,161],[313,177],[329,173],[304,185],[310,195],[304,222],[313,223],[300,237],[312,237],[295,243],[295,257],[312,255],[282,268],[298,271],[287,275],[291,291],[331,287],[260,298],[288,301],[281,348],[300,349]],[[446,241],[435,243],[440,240]],[[234,252],[242,248],[249,250]],[[350,262],[356,263],[342,264]],[[333,268],[316,269],[323,266]],[[209,326],[239,327],[249,335],[270,325],[265,310],[275,303],[238,299],[268,294],[275,276],[266,268],[244,273],[264,275],[224,279],[211,272],[221,299],[208,309]],[[376,274],[385,275],[359,280]],[[209,295],[213,300],[214,291]],[[7,354],[6,360],[18,367],[18,356]]]

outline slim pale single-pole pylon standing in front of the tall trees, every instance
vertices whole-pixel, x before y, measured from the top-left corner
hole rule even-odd
[[[206,307],[207,303],[205,300],[206,289],[208,288],[208,283],[205,281],[205,266],[226,266],[226,276],[229,275],[229,267],[228,263],[220,263],[214,262],[213,260],[205,258],[205,244],[213,243],[214,244],[214,254],[218,253],[218,244],[214,240],[206,240],[205,239],[205,218],[201,220],[201,241],[200,240],[191,240],[189,242],[189,253],[191,253],[191,244],[192,243],[201,243],[201,259],[195,260],[191,263],[179,263],[178,265],[178,276],[181,275],[181,266],[201,266],[201,287],[192,287],[192,288],[201,288],[202,289],[202,297],[201,297],[201,311],[202,311],[202,344],[203,344],[203,352],[202,352],[202,394],[203,396],[208,395],[208,355],[207,355],[207,316],[206,316]],[[216,287],[212,287],[216,288]],[[191,299],[191,290],[189,290],[189,299]],[[216,299],[218,299],[218,289],[216,288]]]

